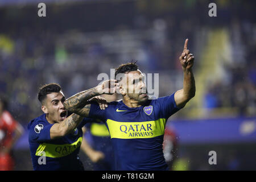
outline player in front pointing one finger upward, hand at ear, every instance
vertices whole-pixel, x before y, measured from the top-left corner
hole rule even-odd
[[[115,69],[121,101],[110,102],[105,110],[96,102],[85,106],[87,98],[83,91],[64,102],[65,108],[73,113],[105,122],[112,138],[117,170],[168,170],[163,155],[166,121],[196,92],[192,72],[194,57],[187,44],[188,39],[179,57],[184,72],[183,89],[170,96],[148,100],[142,72],[135,63],[127,63]],[[122,79],[118,79],[118,74],[123,74]],[[98,94],[104,89],[104,85],[98,88]]]

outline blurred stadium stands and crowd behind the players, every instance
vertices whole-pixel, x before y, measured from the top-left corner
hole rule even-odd
[[[39,18],[38,3],[46,3]],[[208,5],[217,5],[209,17]],[[159,96],[182,88],[185,38],[195,55],[196,96],[170,118],[177,170],[256,169],[256,1],[0,1],[0,95],[25,130],[15,170],[31,170],[27,123],[40,115],[38,88],[59,83],[66,97],[99,73],[138,60],[159,73]],[[209,151],[217,165],[209,165]],[[87,170],[91,163],[84,154]]]

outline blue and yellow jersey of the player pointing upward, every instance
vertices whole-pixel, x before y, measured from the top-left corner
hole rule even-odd
[[[163,156],[164,129],[178,110],[172,94],[134,108],[115,101],[101,110],[93,102],[89,117],[101,119],[108,127],[117,170],[168,170]]]

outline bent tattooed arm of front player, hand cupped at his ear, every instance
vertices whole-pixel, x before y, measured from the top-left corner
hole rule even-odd
[[[75,94],[72,97],[69,97],[64,102],[65,109],[81,115],[82,117],[88,117],[90,112],[89,99],[101,94],[113,94],[116,92],[119,84],[117,80],[106,80],[102,84]]]

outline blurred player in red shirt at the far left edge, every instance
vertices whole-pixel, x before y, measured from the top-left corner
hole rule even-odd
[[[22,133],[23,127],[5,109],[5,102],[0,98],[0,171],[14,169],[11,150]]]

